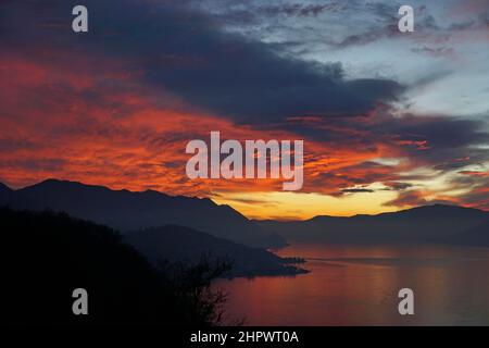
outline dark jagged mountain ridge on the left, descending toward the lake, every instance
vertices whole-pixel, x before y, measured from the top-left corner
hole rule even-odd
[[[15,191],[2,185],[0,192],[0,204],[64,211],[121,232],[172,224],[253,247],[286,245],[284,238],[264,233],[258,224],[229,206],[217,206],[205,198],[168,196],[154,190],[112,190],[58,179],[47,179]]]

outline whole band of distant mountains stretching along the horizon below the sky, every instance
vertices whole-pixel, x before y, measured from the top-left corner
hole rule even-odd
[[[306,221],[251,221],[210,199],[133,192],[48,179],[12,190],[0,184],[0,206],[65,211],[122,232],[180,225],[251,247],[291,243],[489,246],[489,212],[456,206],[423,206],[377,215],[315,216]]]

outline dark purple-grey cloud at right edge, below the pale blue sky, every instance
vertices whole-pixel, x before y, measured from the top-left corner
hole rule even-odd
[[[319,123],[292,123],[290,129],[310,139],[350,142],[361,148],[388,144],[406,157],[436,170],[451,171],[484,162],[489,157],[487,123],[452,116],[381,115],[328,119]]]

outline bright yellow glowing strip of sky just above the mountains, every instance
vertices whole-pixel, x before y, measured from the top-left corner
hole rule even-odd
[[[351,216],[398,211],[383,206],[397,197],[393,191],[348,194],[333,197],[301,192],[226,192],[212,200],[228,204],[249,219],[305,220],[316,215]]]

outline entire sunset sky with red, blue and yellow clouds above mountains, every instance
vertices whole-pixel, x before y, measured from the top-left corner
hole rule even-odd
[[[7,0],[0,181],[209,197],[250,219],[489,210],[488,61],[489,0]],[[189,179],[186,145],[211,130],[303,139],[302,189]]]

